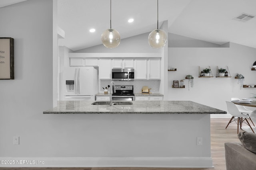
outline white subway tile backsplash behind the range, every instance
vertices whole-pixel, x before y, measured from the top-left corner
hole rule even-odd
[[[103,88],[108,87],[112,80],[99,80],[99,93],[104,93]],[[116,85],[133,85],[134,93],[140,93],[142,86],[151,88],[150,92],[159,93],[161,80],[134,80],[134,81],[114,81]],[[102,88],[103,87],[103,88]]]

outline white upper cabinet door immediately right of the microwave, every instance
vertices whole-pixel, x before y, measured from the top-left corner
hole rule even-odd
[[[136,59],[134,68],[135,79],[147,79],[147,60]]]

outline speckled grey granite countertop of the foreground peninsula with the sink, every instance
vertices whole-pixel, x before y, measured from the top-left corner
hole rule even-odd
[[[132,105],[92,105],[95,101],[58,101],[44,114],[226,114],[191,101],[132,101]]]

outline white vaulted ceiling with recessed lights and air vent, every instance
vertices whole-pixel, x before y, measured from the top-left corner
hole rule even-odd
[[[22,0],[0,0],[1,3]],[[233,20],[242,13],[256,16],[256,0],[159,0],[159,27],[168,20],[168,32],[216,44],[238,43],[256,48],[256,17]],[[128,23],[133,18],[134,22]],[[58,0],[59,40],[74,51],[102,44],[110,27],[110,0]],[[112,28],[121,39],[157,27],[157,0],[112,0]],[[90,33],[89,29],[96,31]],[[121,40],[122,41],[122,40]]]

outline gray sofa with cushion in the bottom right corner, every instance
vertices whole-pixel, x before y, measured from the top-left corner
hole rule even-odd
[[[226,170],[256,170],[256,134],[240,132],[240,143],[225,143]]]

